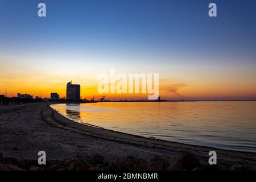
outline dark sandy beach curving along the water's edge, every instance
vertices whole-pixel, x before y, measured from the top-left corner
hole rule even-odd
[[[38,159],[46,151],[47,160],[72,160],[77,154],[100,154],[110,162],[129,155],[145,160],[160,157],[174,163],[191,152],[201,164],[208,164],[208,152],[217,152],[223,169],[233,165],[256,169],[256,154],[166,142],[82,125],[51,109],[51,103],[1,105],[0,153],[16,159]]]

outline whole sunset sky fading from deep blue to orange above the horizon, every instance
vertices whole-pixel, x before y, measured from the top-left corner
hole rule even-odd
[[[256,100],[255,12],[254,0],[0,0],[0,94],[65,97],[72,80],[100,98],[97,75],[114,68],[159,73],[163,99]]]

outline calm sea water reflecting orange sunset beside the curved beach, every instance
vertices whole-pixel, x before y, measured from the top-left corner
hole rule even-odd
[[[256,152],[256,102],[56,104],[73,121],[174,142]]]

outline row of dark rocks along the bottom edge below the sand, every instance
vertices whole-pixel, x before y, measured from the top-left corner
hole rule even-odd
[[[191,153],[184,153],[170,166],[169,160],[154,157],[150,161],[128,155],[109,163],[102,155],[76,155],[73,160],[50,160],[47,165],[39,165],[37,160],[5,157],[0,154],[0,171],[244,171],[241,165],[221,168],[217,165],[200,164],[199,159]]]

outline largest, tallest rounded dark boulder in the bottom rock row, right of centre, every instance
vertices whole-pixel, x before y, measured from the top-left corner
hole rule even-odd
[[[172,166],[171,170],[180,171],[187,170],[191,171],[196,167],[200,167],[199,159],[196,158],[195,155],[187,152],[181,155],[179,159],[176,160],[174,166]]]

